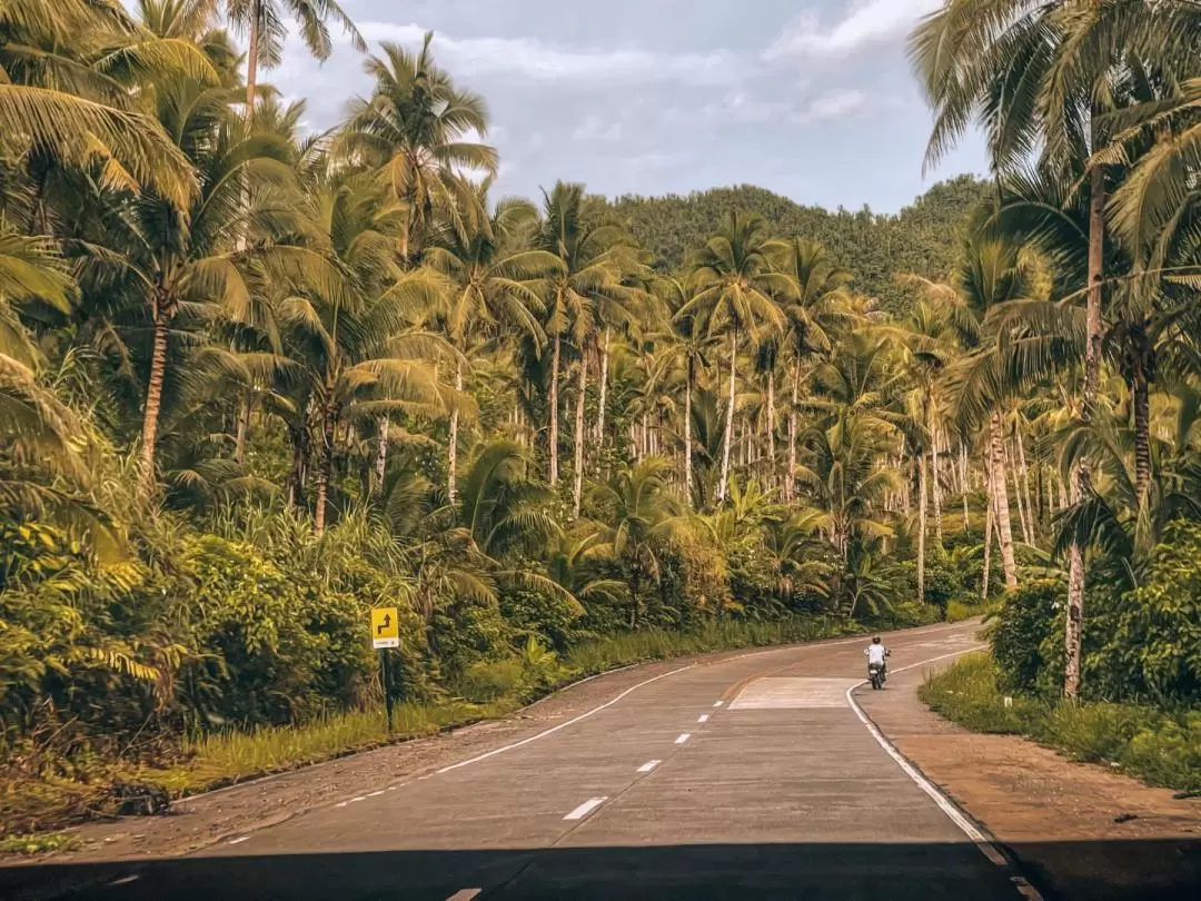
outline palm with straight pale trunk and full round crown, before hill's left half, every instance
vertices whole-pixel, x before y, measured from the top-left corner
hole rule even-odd
[[[739,334],[746,333],[757,341],[764,332],[783,328],[784,316],[775,298],[797,294],[796,282],[772,267],[771,256],[777,249],[761,216],[729,214],[718,232],[693,255],[688,284],[694,293],[676,311],[677,321],[697,317],[705,322],[709,335],[724,333],[729,338],[730,375],[718,505],[725,502],[730,478]]]

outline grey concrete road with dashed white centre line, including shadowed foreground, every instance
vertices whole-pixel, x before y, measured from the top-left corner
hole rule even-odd
[[[946,662],[979,644],[975,629],[888,637],[890,664]],[[1034,896],[874,729],[865,708],[898,690],[861,685],[864,646],[701,658],[519,742],[365,784],[190,858],[7,871],[0,889],[121,901]]]

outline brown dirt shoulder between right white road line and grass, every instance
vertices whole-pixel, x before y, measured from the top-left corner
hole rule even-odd
[[[945,664],[942,664],[945,666]],[[1196,897],[1201,799],[1059,757],[1014,735],[954,726],[918,698],[925,673],[860,697],[897,748],[982,823],[1048,897]]]

